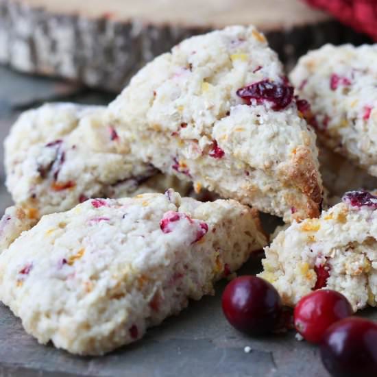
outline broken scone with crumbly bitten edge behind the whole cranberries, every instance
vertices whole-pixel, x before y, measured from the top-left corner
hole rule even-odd
[[[377,304],[377,196],[350,191],[319,219],[293,222],[265,248],[261,278],[293,306],[313,289],[335,289],[354,311]]]

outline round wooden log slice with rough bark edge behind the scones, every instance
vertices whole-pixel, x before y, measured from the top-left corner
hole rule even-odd
[[[180,40],[249,23],[288,64],[324,42],[355,41],[298,0],[0,0],[0,62],[118,92]]]

